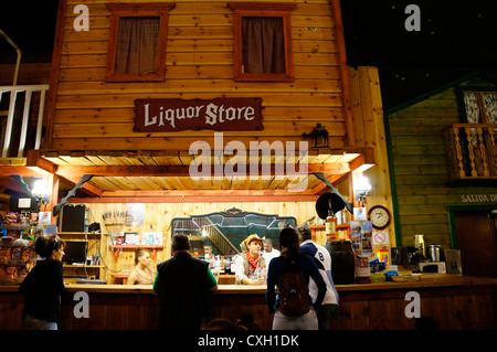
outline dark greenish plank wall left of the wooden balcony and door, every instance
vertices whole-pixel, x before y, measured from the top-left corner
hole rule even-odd
[[[448,205],[463,205],[462,194],[494,193],[495,188],[451,186],[443,130],[461,124],[454,88],[388,116],[396,184],[402,246],[415,234],[426,245],[451,248]],[[468,204],[465,204],[468,205]]]

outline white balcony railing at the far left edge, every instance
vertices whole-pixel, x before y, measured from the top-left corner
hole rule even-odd
[[[40,149],[49,85],[0,87],[1,158],[23,158]]]

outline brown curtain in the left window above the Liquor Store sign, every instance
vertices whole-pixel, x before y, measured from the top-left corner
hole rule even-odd
[[[160,18],[120,18],[114,74],[157,73]]]

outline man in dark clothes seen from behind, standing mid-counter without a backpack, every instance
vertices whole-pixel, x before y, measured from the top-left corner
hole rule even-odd
[[[200,330],[209,314],[209,292],[218,282],[209,263],[190,255],[190,239],[172,237],[172,258],[157,265],[154,292],[160,295],[159,329]]]

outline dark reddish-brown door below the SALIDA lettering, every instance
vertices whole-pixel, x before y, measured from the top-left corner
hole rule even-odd
[[[497,277],[497,218],[490,211],[454,213],[463,275]]]

